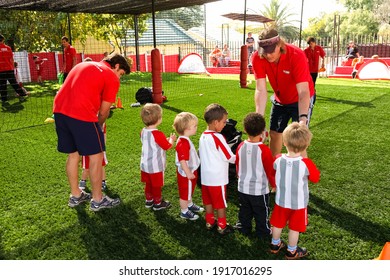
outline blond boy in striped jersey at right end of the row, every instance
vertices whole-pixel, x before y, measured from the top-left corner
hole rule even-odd
[[[299,233],[306,231],[307,204],[309,202],[308,180],[317,183],[320,171],[301,154],[310,145],[312,134],[304,124],[293,122],[283,131],[283,144],[287,154],[279,155],[274,162],[276,170],[275,207],[271,215],[271,253],[276,254],[286,246],[280,239],[288,223],[287,259],[299,259],[308,254],[306,248],[298,247]]]

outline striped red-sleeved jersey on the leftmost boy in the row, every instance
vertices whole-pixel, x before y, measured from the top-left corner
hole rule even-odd
[[[141,131],[141,170],[157,173],[165,170],[166,150],[172,147],[164,133],[157,129],[143,128]]]

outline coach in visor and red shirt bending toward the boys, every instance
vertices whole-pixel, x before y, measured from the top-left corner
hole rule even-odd
[[[256,79],[256,112],[264,116],[268,100],[266,78],[274,91],[270,117],[270,148],[275,156],[282,150],[282,133],[290,120],[309,125],[314,84],[305,53],[286,44],[275,29],[266,29],[252,56]]]

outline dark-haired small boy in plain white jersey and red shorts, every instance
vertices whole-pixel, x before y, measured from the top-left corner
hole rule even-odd
[[[229,162],[235,163],[225,138],[220,134],[225,127],[228,113],[219,104],[210,104],[204,112],[207,129],[199,140],[201,163],[202,200],[206,208],[206,228],[217,227],[218,233],[225,235],[233,232],[233,227],[226,222],[226,186],[229,183]],[[217,221],[214,217],[217,210]]]

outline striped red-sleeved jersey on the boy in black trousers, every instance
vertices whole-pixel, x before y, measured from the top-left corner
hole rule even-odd
[[[269,193],[268,183],[275,187],[275,170],[270,148],[262,142],[245,140],[237,148],[238,191],[249,195]]]

